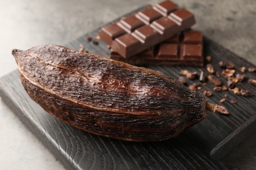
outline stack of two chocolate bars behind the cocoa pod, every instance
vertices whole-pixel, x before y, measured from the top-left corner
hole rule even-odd
[[[111,48],[110,58],[133,65],[203,66],[200,31],[188,30],[194,14],[163,1],[99,31]]]

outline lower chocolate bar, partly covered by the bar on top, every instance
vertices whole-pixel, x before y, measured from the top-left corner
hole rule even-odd
[[[132,65],[203,66],[202,39],[201,31],[184,31],[131,58],[123,58],[112,49],[110,58]]]

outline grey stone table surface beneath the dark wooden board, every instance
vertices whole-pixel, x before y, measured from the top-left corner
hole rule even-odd
[[[255,0],[174,1],[196,14],[195,29],[256,65]],[[158,1],[0,0],[0,76],[16,69],[12,48],[63,45],[147,3]],[[1,99],[0,126],[0,169],[64,169]],[[256,169],[256,134],[221,161]]]

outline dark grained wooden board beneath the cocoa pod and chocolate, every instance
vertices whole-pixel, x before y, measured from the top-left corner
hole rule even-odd
[[[97,31],[87,35],[95,37]],[[96,46],[87,42],[87,35],[66,46],[79,49],[79,44],[83,44],[89,52],[107,57],[109,49],[106,44],[99,41]],[[207,38],[204,38],[204,54],[212,56],[211,63],[220,72],[217,65],[223,59],[232,61],[236,69],[242,66],[255,67]],[[200,69],[174,66],[148,68],[160,70],[174,78],[179,77],[181,69],[198,72]],[[246,75],[256,78],[255,73]],[[238,84],[238,87],[250,89],[256,95],[255,87],[247,82]],[[209,90],[213,86],[207,84],[204,88]],[[228,94],[228,100],[238,101],[236,104],[228,101],[223,103],[231,112],[229,116],[209,114],[200,124],[190,127],[177,139],[131,143],[91,135],[60,122],[30,99],[20,83],[18,71],[0,79],[3,101],[68,169],[227,169],[215,159],[224,156],[256,129],[256,97],[238,97],[226,91],[215,93],[209,97],[209,101],[219,103],[224,93]]]

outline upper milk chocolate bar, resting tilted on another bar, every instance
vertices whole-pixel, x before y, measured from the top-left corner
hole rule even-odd
[[[102,27],[99,35],[115,52],[129,58],[195,23],[194,14],[186,9],[177,9],[171,1],[163,1]]]

